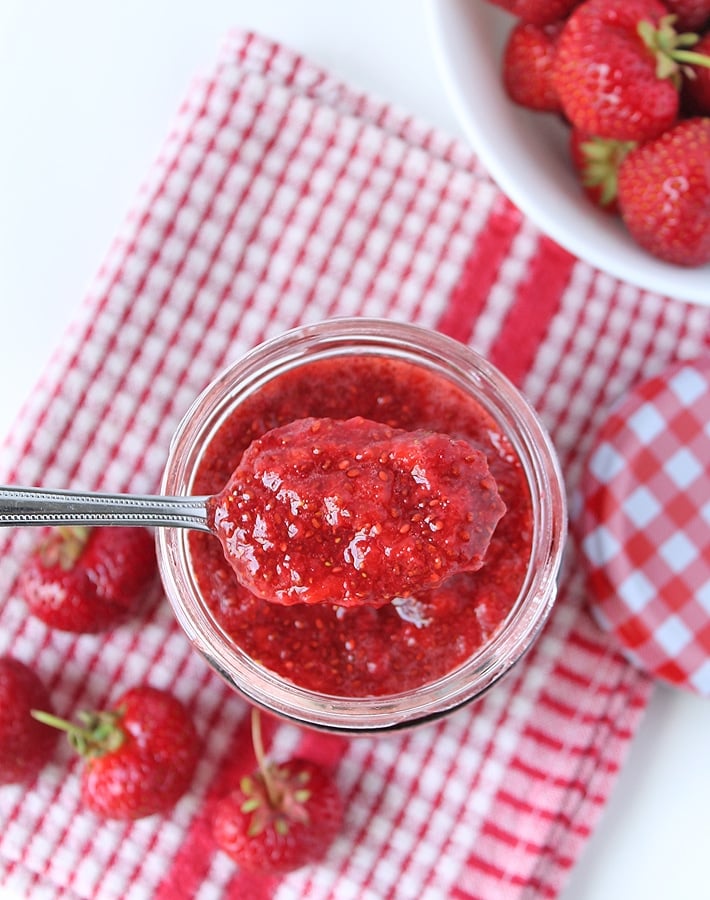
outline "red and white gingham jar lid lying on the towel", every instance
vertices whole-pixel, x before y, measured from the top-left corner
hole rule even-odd
[[[580,524],[601,627],[650,674],[710,696],[710,357],[614,406],[587,461]]]

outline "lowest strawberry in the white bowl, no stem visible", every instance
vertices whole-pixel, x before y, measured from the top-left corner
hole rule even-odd
[[[632,150],[619,167],[619,206],[654,256],[710,262],[710,118],[686,119]]]

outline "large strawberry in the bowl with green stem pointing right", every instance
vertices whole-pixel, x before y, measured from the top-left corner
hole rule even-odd
[[[658,0],[586,0],[557,41],[555,84],[570,122],[616,140],[657,137],[678,118],[683,67],[704,64]],[[707,61],[710,63],[710,60]]]

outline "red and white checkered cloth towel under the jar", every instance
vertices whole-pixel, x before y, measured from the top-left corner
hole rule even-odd
[[[707,341],[710,309],[595,271],[546,239],[476,158],[252,34],[190,90],[83,306],[7,440],[0,480],[155,491],[171,433],[211,376],[263,338],[334,315],[418,322],[471,344],[530,397],[572,493],[609,403]],[[480,704],[396,737],[275,730],[331,763],[347,799],[327,859],[280,880],[216,851],[210,804],[250,765],[243,701],[190,650],[165,601],[110,636],[55,632],[14,593],[32,529],[0,536],[0,652],[57,711],[147,680],[205,736],[167,818],[102,822],[60,750],[0,789],[0,885],[33,897],[554,896],[604,806],[649,682],[589,616],[569,547],[534,650]],[[273,730],[273,729],[272,729]]]

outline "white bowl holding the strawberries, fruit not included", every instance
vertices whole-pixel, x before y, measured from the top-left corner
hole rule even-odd
[[[428,0],[438,63],[466,136],[501,190],[575,256],[640,288],[710,306],[710,266],[662,262],[582,193],[568,129],[508,100],[500,59],[512,16],[484,0]]]

